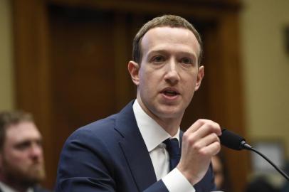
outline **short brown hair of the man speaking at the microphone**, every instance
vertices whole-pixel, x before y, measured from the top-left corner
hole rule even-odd
[[[203,55],[203,44],[201,43],[201,36],[199,35],[198,31],[196,31],[196,28],[194,28],[194,26],[189,23],[189,21],[186,21],[186,19],[180,16],[174,15],[164,15],[153,18],[151,21],[145,23],[142,28],[140,28],[140,31],[137,32],[132,43],[132,60],[134,60],[136,63],[140,63],[142,60],[142,48],[140,42],[142,41],[142,37],[144,36],[144,34],[147,33],[149,29],[164,26],[169,26],[172,28],[186,28],[189,29],[189,31],[191,31],[192,33],[194,33],[194,36],[196,36],[196,40],[198,41],[200,46],[198,65],[201,65],[201,57]]]

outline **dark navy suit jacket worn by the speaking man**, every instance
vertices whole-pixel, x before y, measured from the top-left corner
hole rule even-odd
[[[61,152],[56,191],[168,191],[154,174],[132,104],[70,135]],[[214,190],[211,166],[194,188]]]

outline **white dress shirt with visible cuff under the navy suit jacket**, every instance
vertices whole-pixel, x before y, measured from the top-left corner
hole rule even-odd
[[[149,151],[149,156],[152,159],[157,181],[162,179],[170,192],[195,192],[194,187],[179,169],[175,168],[169,172],[169,153],[167,152],[166,145],[162,142],[170,138],[170,134],[142,110],[137,100],[135,100],[132,109],[135,113],[137,126],[140,129],[144,143],[147,146],[147,151]],[[172,138],[179,140],[179,129],[177,134]]]

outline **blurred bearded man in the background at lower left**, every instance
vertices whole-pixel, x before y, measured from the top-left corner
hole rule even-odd
[[[0,112],[0,191],[47,192],[41,134],[26,112]]]

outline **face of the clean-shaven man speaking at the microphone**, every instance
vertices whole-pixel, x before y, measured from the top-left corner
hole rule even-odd
[[[137,73],[131,73],[140,105],[154,118],[182,119],[204,75],[204,67],[198,67],[200,46],[194,33],[152,28],[142,38],[141,50],[142,61],[134,65],[139,66]]]

